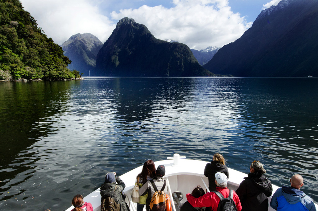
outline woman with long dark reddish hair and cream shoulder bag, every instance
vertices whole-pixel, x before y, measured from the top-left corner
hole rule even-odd
[[[147,160],[142,167],[142,172],[140,172],[136,177],[136,183],[138,183],[139,188],[142,187],[148,180],[153,179],[156,176],[156,166],[152,160]],[[139,202],[137,202],[137,211],[142,211],[146,204],[146,195],[139,197]]]

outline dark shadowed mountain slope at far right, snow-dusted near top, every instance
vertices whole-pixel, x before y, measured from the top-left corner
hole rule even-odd
[[[203,67],[233,76],[318,75],[318,1],[282,0]]]

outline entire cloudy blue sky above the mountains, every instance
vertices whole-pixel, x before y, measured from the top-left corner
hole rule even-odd
[[[76,33],[105,42],[124,17],[158,39],[197,50],[222,47],[242,36],[260,11],[279,0],[21,0],[48,37],[61,45]]]

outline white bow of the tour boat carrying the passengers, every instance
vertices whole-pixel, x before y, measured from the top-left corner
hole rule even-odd
[[[180,211],[179,206],[187,201],[185,195],[191,193],[192,190],[200,185],[204,189],[208,189],[208,178],[204,176],[204,168],[208,162],[199,161],[199,160],[189,160],[189,159],[180,159],[185,158],[179,156],[179,154],[174,154],[173,157],[167,157],[168,160],[156,161],[155,165],[158,166],[163,164],[166,168],[166,175],[163,177],[167,180],[168,190],[170,199],[176,198],[174,192],[181,192],[183,198],[176,198],[171,200],[172,211]],[[173,162],[171,162],[173,159]],[[180,159],[180,160],[179,160]],[[247,177],[247,174],[236,171],[234,169],[228,168],[229,174],[231,175],[227,185],[229,189],[234,191],[239,187],[239,184],[242,182],[244,177]],[[126,194],[126,202],[130,208],[130,211],[136,211],[136,203],[131,201],[131,192],[135,185],[135,178],[137,174],[142,171],[142,166],[139,166],[123,175],[120,176],[122,181],[124,181],[126,187],[124,193]],[[278,189],[278,186],[273,185],[273,193]],[[273,194],[272,194],[273,196]],[[272,196],[268,197],[268,202],[271,201]],[[93,211],[100,211],[101,196],[99,189],[93,191],[84,198],[84,201],[90,202],[93,205]],[[316,209],[318,210],[318,205],[315,204]],[[71,211],[74,207],[69,207],[66,211]],[[144,208],[144,210],[146,210]],[[268,211],[275,211],[272,207],[268,206]]]

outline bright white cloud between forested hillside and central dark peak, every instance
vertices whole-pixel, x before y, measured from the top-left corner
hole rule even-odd
[[[73,34],[92,33],[106,41],[116,24],[88,0],[21,0],[48,37],[62,44]]]

